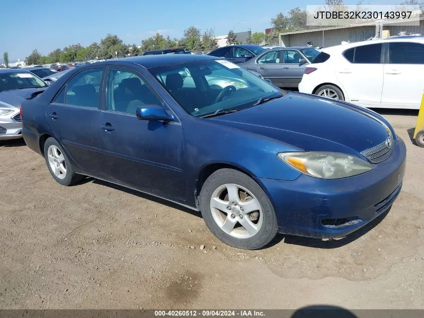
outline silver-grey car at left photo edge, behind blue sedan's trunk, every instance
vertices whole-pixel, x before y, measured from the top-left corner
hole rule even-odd
[[[20,107],[47,84],[25,69],[0,69],[0,140],[22,138]]]

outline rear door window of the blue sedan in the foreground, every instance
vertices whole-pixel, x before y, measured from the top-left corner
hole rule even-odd
[[[98,107],[102,68],[90,69],[77,74],[66,86],[65,104]]]

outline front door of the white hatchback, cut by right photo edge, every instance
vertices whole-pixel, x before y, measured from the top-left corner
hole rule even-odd
[[[424,82],[424,44],[389,42],[381,107],[419,109]]]

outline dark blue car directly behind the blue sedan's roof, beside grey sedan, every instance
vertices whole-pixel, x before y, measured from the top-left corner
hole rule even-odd
[[[238,64],[246,62],[266,50],[268,49],[254,44],[228,45],[222,48],[217,48],[216,50],[209,52],[207,55],[224,58]]]

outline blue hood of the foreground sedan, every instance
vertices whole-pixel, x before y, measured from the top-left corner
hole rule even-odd
[[[379,120],[355,105],[296,92],[211,120],[307,151],[353,155],[381,144],[389,134]]]

